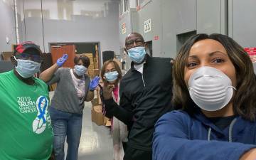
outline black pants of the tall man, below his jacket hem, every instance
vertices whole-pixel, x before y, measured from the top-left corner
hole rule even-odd
[[[129,145],[126,145],[125,148],[124,160],[152,160],[152,151],[134,149]]]

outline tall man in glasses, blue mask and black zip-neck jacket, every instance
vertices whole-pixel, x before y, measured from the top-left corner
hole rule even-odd
[[[103,87],[107,117],[127,124],[129,137],[124,160],[151,160],[152,137],[156,120],[171,110],[171,58],[152,58],[139,33],[125,39],[125,50],[132,60],[131,69],[120,82],[119,106],[112,98],[112,86]]]

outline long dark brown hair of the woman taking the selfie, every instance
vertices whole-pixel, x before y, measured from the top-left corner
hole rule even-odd
[[[193,107],[191,105],[193,101],[184,81],[184,69],[193,44],[205,39],[218,41],[227,51],[228,57],[235,66],[237,78],[237,92],[235,92],[233,97],[233,110],[235,114],[254,121],[256,114],[256,75],[253,70],[252,61],[245,50],[232,38],[218,33],[192,36],[179,50],[173,70],[174,95],[172,102],[174,106],[177,109],[188,110],[191,113],[195,112],[194,108],[191,108]]]

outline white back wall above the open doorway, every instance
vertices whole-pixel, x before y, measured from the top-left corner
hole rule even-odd
[[[100,42],[101,51],[119,54],[118,6],[113,0],[44,0],[42,26],[41,1],[26,0],[26,41],[38,43],[46,52],[51,42]]]

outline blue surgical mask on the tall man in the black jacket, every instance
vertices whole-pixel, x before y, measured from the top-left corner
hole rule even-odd
[[[127,50],[129,58],[134,61],[134,63],[142,63],[146,55],[146,50],[144,47],[134,47]]]

